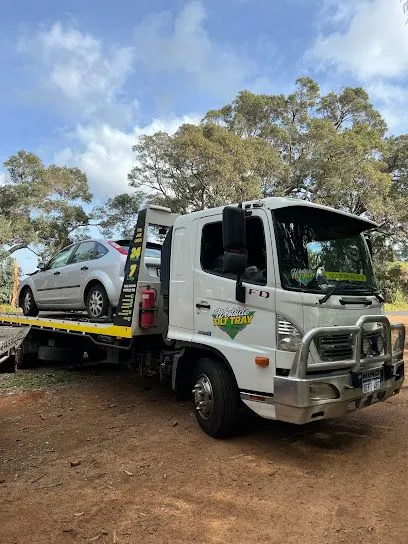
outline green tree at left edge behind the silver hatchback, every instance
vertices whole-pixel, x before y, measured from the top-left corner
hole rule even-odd
[[[44,166],[37,155],[23,150],[4,166],[9,183],[0,187],[0,246],[10,253],[30,247],[46,257],[89,224],[84,204],[92,195],[81,170]]]

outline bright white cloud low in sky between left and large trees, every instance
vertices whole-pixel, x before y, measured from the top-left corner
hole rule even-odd
[[[197,123],[201,116],[196,114],[154,119],[147,126],[135,126],[124,132],[110,125],[79,125],[70,135],[74,145],[58,152],[57,164],[81,168],[96,196],[105,199],[129,190],[127,174],[135,164],[132,145],[138,136],[157,131],[174,133],[183,123]]]

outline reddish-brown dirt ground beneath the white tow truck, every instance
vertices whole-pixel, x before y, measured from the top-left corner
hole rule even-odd
[[[125,369],[0,375],[0,543],[406,544],[407,407],[217,441]]]

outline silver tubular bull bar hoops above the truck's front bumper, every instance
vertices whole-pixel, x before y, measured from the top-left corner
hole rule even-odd
[[[368,323],[381,323],[384,333],[384,353],[378,356],[361,357],[361,345],[364,333],[364,325]],[[391,333],[398,331],[398,338],[394,346],[392,345]],[[352,338],[352,358],[342,361],[314,361],[309,362],[310,348],[312,342],[319,336],[324,335],[344,335],[349,334]],[[390,323],[385,315],[367,315],[362,316],[355,325],[338,327],[316,327],[308,331],[302,338],[300,349],[297,352],[289,377],[296,379],[305,379],[308,372],[346,369],[350,368],[354,372],[358,371],[361,365],[384,363],[392,365],[393,362],[403,358],[405,345],[405,327],[402,323]],[[317,350],[316,350],[317,351]]]

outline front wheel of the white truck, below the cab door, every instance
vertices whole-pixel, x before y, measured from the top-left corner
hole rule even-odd
[[[194,370],[193,400],[200,427],[219,438],[234,433],[239,391],[230,372],[217,360],[200,359]]]

